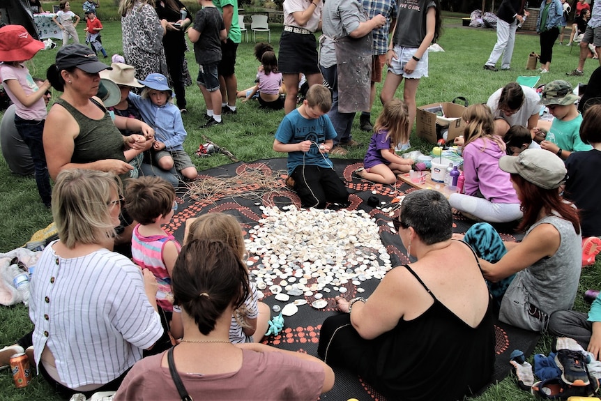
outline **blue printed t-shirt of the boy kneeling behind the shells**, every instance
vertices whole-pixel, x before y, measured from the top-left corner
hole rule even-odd
[[[275,139],[282,144],[300,144],[307,140],[323,144],[326,139],[335,137],[336,131],[327,114],[317,119],[305,119],[298,109],[284,116],[275,133]],[[319,153],[319,147],[312,144],[307,153],[300,151],[288,153],[288,174],[292,174],[299,165],[330,168],[332,162],[328,158],[328,153]]]

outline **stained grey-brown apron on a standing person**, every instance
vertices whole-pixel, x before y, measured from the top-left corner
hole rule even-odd
[[[363,38],[350,36],[334,41],[338,74],[338,111],[367,112],[372,80],[372,33]]]

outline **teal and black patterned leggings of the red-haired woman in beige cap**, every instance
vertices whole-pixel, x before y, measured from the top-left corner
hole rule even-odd
[[[478,222],[469,227],[463,241],[471,246],[478,257],[485,259],[485,261],[490,263],[499,262],[501,257],[507,253],[507,248],[505,248],[503,239],[501,239],[499,233],[496,232],[496,229],[487,222]],[[487,280],[486,283],[488,289],[497,305],[501,305],[503,295],[514,278],[515,274],[512,274],[498,282],[490,282]]]

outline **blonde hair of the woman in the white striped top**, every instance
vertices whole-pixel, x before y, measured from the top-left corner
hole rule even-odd
[[[116,236],[109,206],[115,193],[121,197],[121,181],[114,174],[86,169],[59,173],[52,190],[52,217],[67,248]]]

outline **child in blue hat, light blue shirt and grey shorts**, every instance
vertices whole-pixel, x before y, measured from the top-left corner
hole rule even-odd
[[[130,92],[128,97],[139,109],[142,119],[155,130],[152,164],[165,171],[175,166],[186,179],[195,179],[197,169],[183,150],[183,141],[188,133],[183,128],[181,112],[173,104],[173,91],[167,85],[167,77],[152,73],[139,83],[146,86],[142,96]]]

